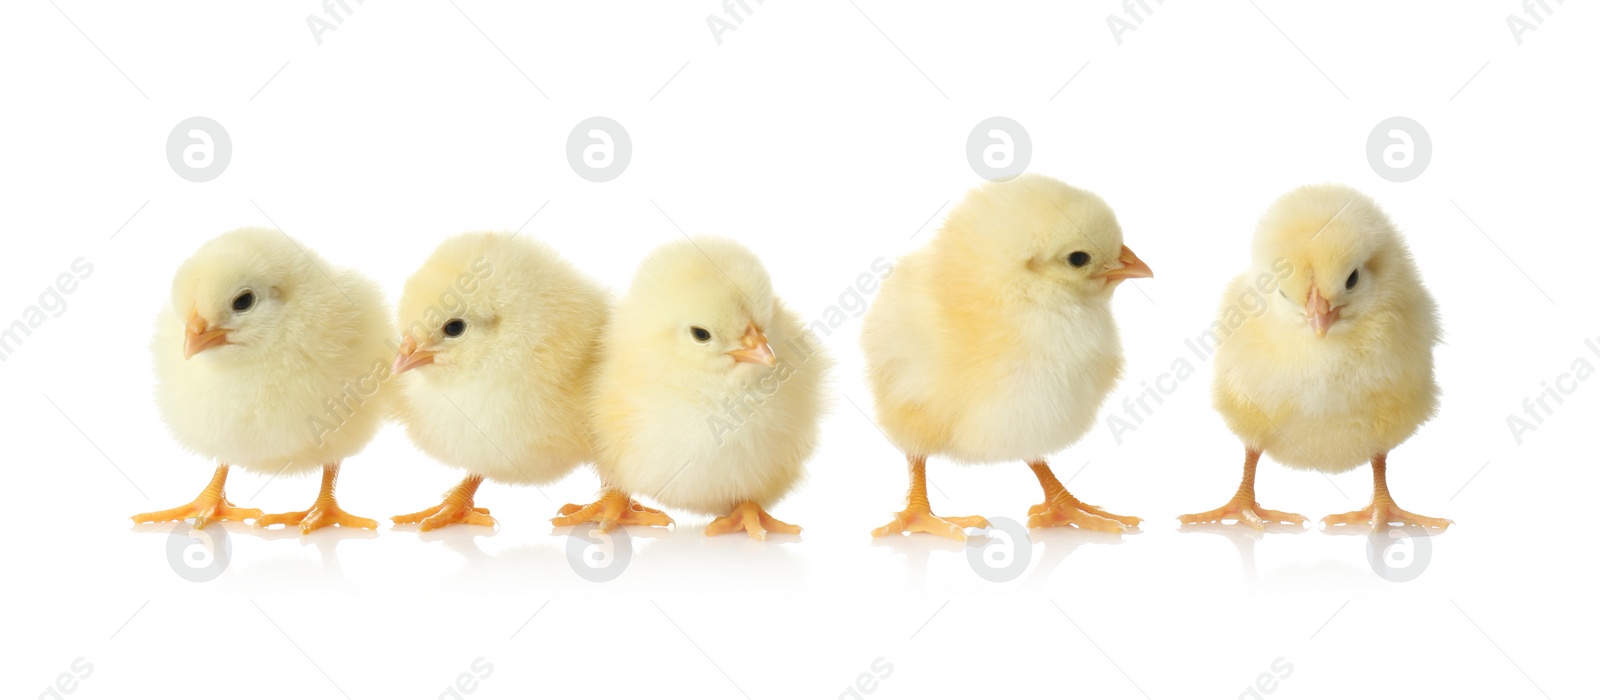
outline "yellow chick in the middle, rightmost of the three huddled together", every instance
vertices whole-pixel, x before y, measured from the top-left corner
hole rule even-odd
[[[645,494],[720,515],[707,535],[798,534],[763,507],[800,481],[816,447],[829,366],[749,249],[709,237],[662,246],[605,336],[592,411],[608,489],[554,523],[670,523],[624,495]]]

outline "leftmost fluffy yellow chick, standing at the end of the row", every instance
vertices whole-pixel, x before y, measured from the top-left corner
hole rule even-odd
[[[390,336],[378,284],[278,230],[238,229],[200,246],[178,268],[150,350],[168,428],[219,467],[189,505],[133,519],[378,527],[344,513],[333,492],[339,465],[387,412]],[[322,492],[309,510],[262,516],[227,502],[229,465],[270,476],[320,467]]]

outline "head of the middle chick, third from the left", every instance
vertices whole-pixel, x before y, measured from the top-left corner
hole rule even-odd
[[[744,246],[715,237],[669,243],[638,267],[618,310],[624,342],[674,368],[733,376],[778,364],[771,280]]]

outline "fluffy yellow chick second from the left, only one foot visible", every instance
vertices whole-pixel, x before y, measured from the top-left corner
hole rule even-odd
[[[394,521],[493,527],[474,505],[485,478],[547,484],[590,460],[587,393],[608,315],[606,291],[542,243],[442,243],[400,296],[397,404],[411,441],[467,476],[440,505]]]

